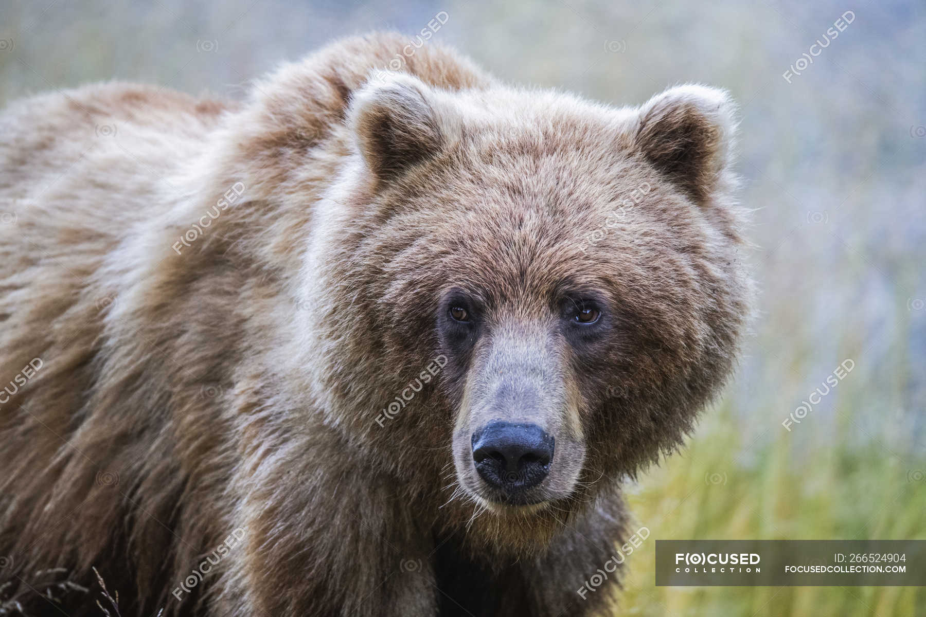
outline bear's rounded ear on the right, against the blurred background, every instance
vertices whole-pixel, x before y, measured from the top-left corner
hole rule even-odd
[[[640,107],[634,144],[669,181],[704,203],[729,164],[734,113],[725,91],[669,88]]]

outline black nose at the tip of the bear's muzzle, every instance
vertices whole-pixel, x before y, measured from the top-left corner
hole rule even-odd
[[[488,484],[518,493],[550,472],[553,438],[537,425],[490,422],[472,434],[472,460]]]

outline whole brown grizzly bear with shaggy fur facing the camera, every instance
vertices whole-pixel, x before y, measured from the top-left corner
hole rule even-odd
[[[11,614],[99,614],[94,568],[125,615],[610,610],[621,482],[748,315],[731,99],[405,47],[0,117]]]

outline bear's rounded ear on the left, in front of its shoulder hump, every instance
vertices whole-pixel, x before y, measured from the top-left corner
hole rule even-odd
[[[431,89],[405,73],[378,71],[351,99],[348,125],[378,179],[393,179],[444,146]]]

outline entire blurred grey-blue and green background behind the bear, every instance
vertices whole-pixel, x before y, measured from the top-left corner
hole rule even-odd
[[[0,0],[0,103],[113,79],[240,98],[335,37],[417,43],[441,11],[432,41],[505,80],[613,105],[697,81],[741,106],[755,332],[689,447],[628,486],[651,535],[615,614],[926,614],[917,587],[656,587],[653,574],[656,538],[926,539],[921,0]]]

